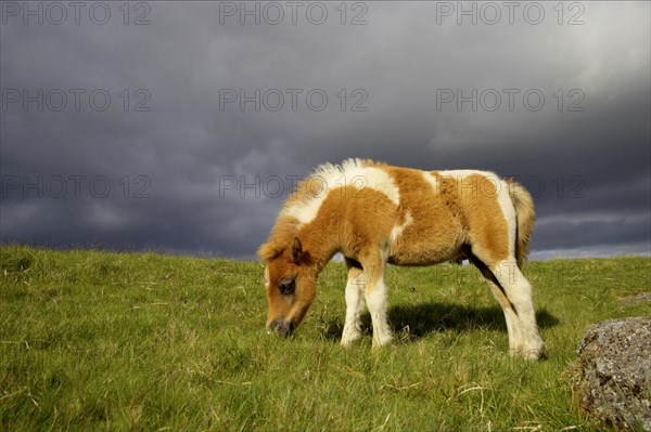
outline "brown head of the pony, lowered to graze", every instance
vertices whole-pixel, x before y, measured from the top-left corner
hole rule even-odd
[[[267,243],[260,246],[258,256],[266,263],[267,330],[290,335],[315,298],[317,276],[312,260],[298,237],[290,245]]]

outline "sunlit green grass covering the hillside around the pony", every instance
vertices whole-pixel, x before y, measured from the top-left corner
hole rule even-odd
[[[390,267],[393,345],[339,345],[331,263],[291,339],[264,330],[258,263],[0,248],[0,430],[598,430],[565,369],[592,323],[651,316],[649,258],[532,262],[549,358],[508,355],[469,266]]]

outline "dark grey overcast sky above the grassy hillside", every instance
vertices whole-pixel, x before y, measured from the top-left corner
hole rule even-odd
[[[649,2],[0,5],[2,243],[253,259],[365,157],[516,176],[534,259],[651,253]]]

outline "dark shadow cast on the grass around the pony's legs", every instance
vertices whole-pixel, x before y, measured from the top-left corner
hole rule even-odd
[[[546,309],[536,311],[538,327],[557,326],[559,319]],[[419,339],[434,331],[472,331],[478,328],[507,332],[505,315],[499,306],[471,307],[457,303],[422,303],[397,305],[388,310],[388,320],[396,333],[408,333]],[[330,322],[322,326],[323,337],[341,339],[343,322]],[[368,313],[362,315],[361,328],[369,333],[372,328]]]

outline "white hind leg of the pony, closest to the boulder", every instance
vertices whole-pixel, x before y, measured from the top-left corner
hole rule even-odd
[[[515,264],[515,260],[502,261],[495,267],[494,273],[515,309],[515,315],[511,317],[514,340],[512,348],[526,358],[540,358],[545,343],[538,336],[531,284]]]

